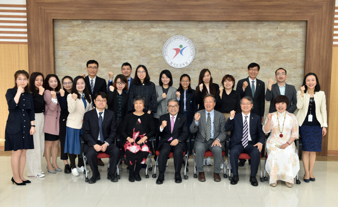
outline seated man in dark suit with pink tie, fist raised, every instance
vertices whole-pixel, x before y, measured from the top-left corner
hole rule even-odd
[[[186,140],[188,137],[187,117],[179,114],[180,103],[176,98],[167,101],[168,112],[159,117],[157,133],[161,137],[158,143],[158,169],[159,175],[156,184],[164,181],[164,172],[167,158],[171,152],[174,156],[175,182],[181,183],[181,168]]]

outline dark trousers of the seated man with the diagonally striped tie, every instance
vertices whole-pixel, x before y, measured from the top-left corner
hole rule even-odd
[[[258,166],[260,162],[260,152],[254,144],[249,141],[246,148],[243,147],[242,143],[234,145],[230,148],[230,164],[234,175],[238,175],[238,157],[241,153],[246,153],[251,158],[251,176],[256,176],[258,172]]]

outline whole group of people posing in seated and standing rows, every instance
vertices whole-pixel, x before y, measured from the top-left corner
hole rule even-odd
[[[258,185],[256,174],[266,143],[270,185],[276,186],[278,180],[283,180],[291,187],[300,168],[294,144],[299,134],[303,142],[304,181],[315,180],[315,152],[321,151],[322,135],[327,127],[325,94],[320,91],[316,74],[305,75],[297,92],[294,86],[286,84],[287,71],[278,68],[277,83],[270,79],[265,93],[264,82],[256,78],[260,70],[257,63],[248,65],[249,77],[238,81],[236,90],[233,76],[225,75],[219,87],[212,82],[208,69],[200,72],[195,90],[187,74],[181,76],[179,88],[174,88],[168,70],[160,73],[155,86],[144,65],[137,66],[132,78],[132,66],[128,62],[122,64],[122,74],[115,79],[114,73],[108,73],[107,84],[97,77],[98,66],[97,61],[89,60],[88,76],[83,74],[74,80],[65,76],[61,82],[54,74],[44,78],[43,74],[34,72],[29,78],[26,71],[15,73],[15,86],[6,94],[9,116],[5,130],[5,151],[12,151],[13,183],[30,183],[23,176],[26,160],[28,177],[44,177],[43,154],[49,173],[62,171],[57,165],[59,142],[64,172],[73,176],[85,172],[85,163],[79,158],[80,136],[92,170],[89,183],[100,179],[98,165],[104,163],[97,159],[99,152],[110,156],[107,179],[118,182],[116,168],[121,158],[128,165],[129,181],[134,182],[141,181],[140,170],[154,150],[159,151],[158,157],[154,157],[158,159],[159,169],[156,183],[164,181],[171,152],[174,179],[181,183],[184,155],[188,153],[186,142],[191,133],[195,133],[195,145],[191,147],[196,154],[199,181],[205,181],[203,166],[212,165],[211,158],[204,158],[208,150],[213,154],[214,181],[221,180],[219,172],[224,168],[221,159],[227,134],[231,137],[231,184],[238,183],[238,167],[246,162],[239,160],[239,156],[247,153],[251,158],[250,183]],[[270,101],[270,108],[262,125],[265,100]],[[266,142],[265,133],[269,133]],[[155,139],[156,146],[149,139]],[[121,165],[119,168],[123,170]]]

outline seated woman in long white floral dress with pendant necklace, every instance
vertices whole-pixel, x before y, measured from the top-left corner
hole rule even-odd
[[[289,99],[278,95],[273,103],[277,111],[269,113],[263,126],[264,133],[270,133],[266,141],[266,171],[270,175],[270,185],[277,186],[278,180],[292,187],[299,171],[299,158],[294,141],[298,138],[298,121],[294,114],[286,111]]]

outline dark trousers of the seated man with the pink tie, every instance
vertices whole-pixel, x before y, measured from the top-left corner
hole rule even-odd
[[[178,144],[176,146],[171,146],[170,143],[171,141],[165,142],[159,147],[159,155],[157,158],[159,173],[165,172],[165,164],[171,152],[173,152],[173,156],[174,156],[175,172],[179,172],[179,173],[181,172],[184,150],[182,146]]]

